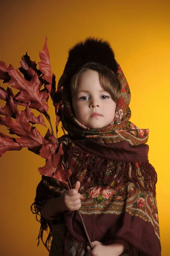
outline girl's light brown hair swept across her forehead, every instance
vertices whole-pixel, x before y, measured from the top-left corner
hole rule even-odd
[[[70,91],[71,95],[74,96],[76,89],[78,87],[78,81],[86,70],[95,70],[99,74],[99,79],[101,82],[101,87],[107,91],[114,102],[118,102],[118,99],[121,96],[121,83],[118,80],[115,73],[109,68],[98,64],[96,62],[88,62],[77,73],[75,73],[70,81]]]

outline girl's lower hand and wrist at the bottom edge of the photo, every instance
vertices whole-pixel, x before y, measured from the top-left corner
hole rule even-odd
[[[92,245],[94,246],[92,250],[87,246],[88,253],[86,253],[86,256],[119,256],[124,252],[123,244],[103,245],[99,241],[94,241]]]

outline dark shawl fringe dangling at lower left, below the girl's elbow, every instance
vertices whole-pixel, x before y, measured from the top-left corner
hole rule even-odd
[[[32,205],[31,205],[31,211],[33,214],[36,214],[36,221],[40,222],[40,231],[38,234],[38,242],[37,242],[37,246],[40,244],[40,239],[43,243],[43,245],[46,247],[46,249],[48,251],[50,251],[50,247],[51,247],[51,243],[52,243],[52,231],[49,230],[49,225],[48,225],[48,221],[43,218],[43,216],[40,214],[40,209],[42,208],[40,202],[35,201]],[[43,231],[46,231],[47,233],[49,232],[46,241],[43,241]]]

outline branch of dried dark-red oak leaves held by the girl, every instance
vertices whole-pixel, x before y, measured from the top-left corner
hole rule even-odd
[[[38,169],[40,175],[53,177],[60,181],[66,189],[71,189],[72,186],[69,180],[72,174],[71,169],[66,169],[63,162],[62,143],[58,144],[58,137],[55,136],[48,113],[49,96],[53,99],[55,95],[56,103],[53,102],[53,105],[56,114],[56,134],[58,134],[58,125],[63,119],[63,88],[61,87],[58,90],[55,88],[55,75],[51,72],[47,38],[45,38],[45,44],[39,56],[39,70],[35,61],[31,61],[27,53],[23,55],[22,61],[20,61],[20,72],[14,69],[11,64],[7,67],[5,62],[0,61],[0,79],[3,80],[3,83],[8,83],[11,87],[19,90],[14,95],[11,88],[7,87],[5,90],[0,87],[0,99],[6,102],[4,107],[0,105],[0,125],[5,125],[9,134],[16,134],[19,137],[14,138],[0,132],[0,157],[8,150],[28,148],[46,159],[45,166]],[[22,105],[25,109],[19,111],[17,105]],[[36,117],[31,109],[36,109],[40,112],[40,115]],[[44,118],[48,120],[50,128],[46,127]],[[47,128],[44,137],[34,126],[35,124]],[[78,214],[84,226],[79,211]],[[86,232],[85,226],[84,229]],[[86,236],[89,241],[87,232]],[[90,241],[89,243],[91,245]]]

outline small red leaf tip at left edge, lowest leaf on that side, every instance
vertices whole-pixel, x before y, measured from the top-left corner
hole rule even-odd
[[[0,132],[0,157],[2,157],[7,150],[21,150],[21,146],[14,138]]]

